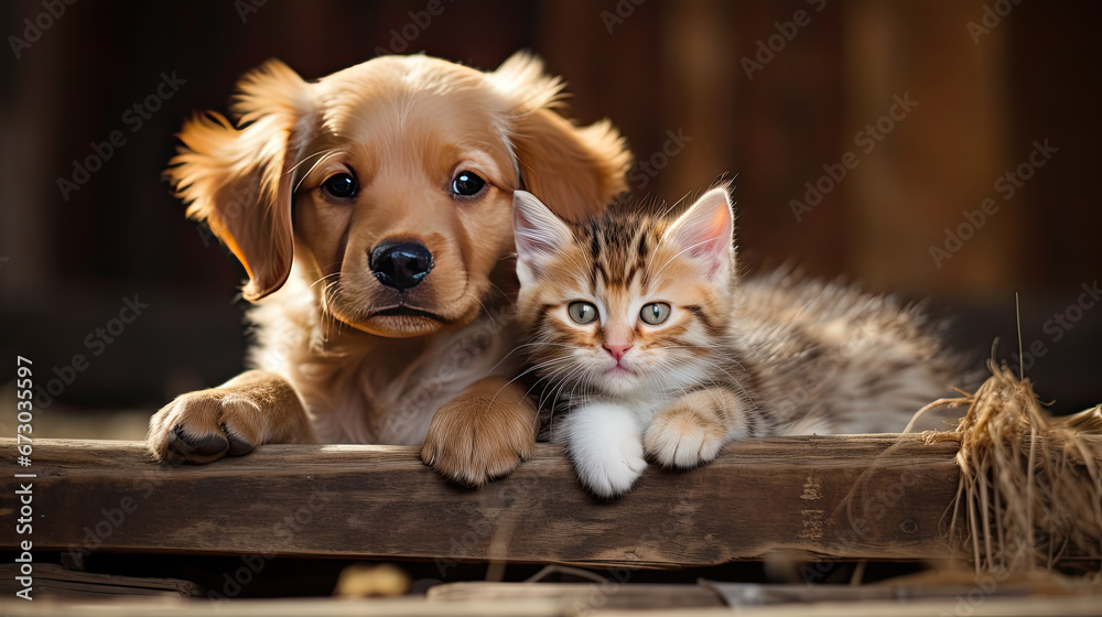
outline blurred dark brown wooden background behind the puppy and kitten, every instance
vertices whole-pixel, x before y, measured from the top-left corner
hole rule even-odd
[[[929,296],[959,347],[983,358],[998,337],[1015,365],[1020,292],[1027,375],[1078,411],[1102,402],[1084,291],[1102,274],[1100,18],[1089,1],[4,2],[0,382],[25,356],[36,422],[84,419],[39,435],[131,436],[94,410],[148,415],[241,369],[244,270],[161,172],[181,121],[225,110],[246,71],[279,57],[311,79],[380,51],[493,68],[528,48],[572,117],[611,118],[647,162],[636,195],[737,175],[752,271]],[[1035,143],[1048,154],[1022,166]],[[125,299],[148,306],[112,322]]]

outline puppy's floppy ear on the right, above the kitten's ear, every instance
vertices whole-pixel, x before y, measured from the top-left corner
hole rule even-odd
[[[560,116],[563,83],[543,72],[543,63],[523,52],[490,74],[515,101],[509,139],[523,188],[557,215],[579,220],[604,210],[627,188],[624,175],[631,153],[608,120],[576,127]]]

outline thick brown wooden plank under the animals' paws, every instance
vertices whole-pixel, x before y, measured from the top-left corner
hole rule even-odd
[[[14,450],[13,440],[0,448]],[[776,549],[835,558],[948,556],[952,443],[908,435],[730,445],[692,472],[648,469],[619,500],[577,485],[558,446],[472,490],[413,447],[270,445],[212,465],[151,462],[140,442],[34,443],[34,550],[503,560],[703,566]],[[14,490],[0,513],[18,511]],[[846,507],[849,499],[849,508]],[[3,534],[2,546],[15,538]]]

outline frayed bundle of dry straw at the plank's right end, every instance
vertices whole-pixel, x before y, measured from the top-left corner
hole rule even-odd
[[[1028,379],[1006,366],[990,368],[974,394],[930,405],[966,405],[957,430],[923,433],[927,443],[960,443],[950,541],[971,554],[977,573],[1098,567],[1102,405],[1052,416]]]

